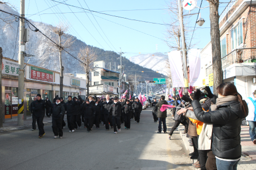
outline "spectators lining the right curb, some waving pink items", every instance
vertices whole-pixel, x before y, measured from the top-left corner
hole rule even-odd
[[[241,158],[241,122],[248,116],[248,102],[252,102],[249,108],[253,107],[255,110],[256,105],[253,103],[256,103],[256,94],[245,101],[233,83],[222,83],[216,91],[218,96],[213,95],[208,86],[195,91],[190,87],[188,95],[184,95],[181,88],[179,95],[172,96],[168,101],[170,105],[167,105],[164,96],[161,96],[158,103],[156,100],[152,103],[153,119],[156,122],[158,117],[159,120],[157,133],[161,133],[162,123],[163,131],[167,133],[166,108],[171,108],[175,122],[168,133],[168,139],[172,139],[177,126],[184,125],[184,133],[194,147],[194,152],[189,154],[190,158],[198,159],[193,164],[195,168],[235,170]],[[254,112],[250,115],[252,116],[256,117]],[[250,131],[250,136],[256,144],[255,133]]]

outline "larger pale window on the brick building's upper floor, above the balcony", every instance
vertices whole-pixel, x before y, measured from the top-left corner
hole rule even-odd
[[[240,22],[231,30],[232,50],[243,44],[243,22]]]

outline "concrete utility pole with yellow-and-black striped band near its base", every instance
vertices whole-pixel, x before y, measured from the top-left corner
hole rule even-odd
[[[24,51],[25,51],[25,0],[20,0],[20,40],[19,40],[19,88],[18,88],[18,125],[24,125]]]

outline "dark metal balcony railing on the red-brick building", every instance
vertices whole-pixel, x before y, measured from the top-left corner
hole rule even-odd
[[[256,63],[256,48],[235,49],[221,58],[222,69],[235,63]],[[212,72],[210,65],[206,68],[206,75]]]

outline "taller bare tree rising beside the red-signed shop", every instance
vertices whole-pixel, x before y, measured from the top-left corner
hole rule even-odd
[[[69,25],[66,25],[63,22],[60,22],[56,25],[56,27],[50,26],[50,29],[56,36],[54,36],[52,39],[56,43],[53,43],[52,41],[48,41],[48,44],[50,46],[49,50],[51,52],[57,51],[59,53],[59,59],[60,59],[60,72],[61,72],[61,78],[60,78],[60,97],[63,96],[63,70],[64,67],[62,65],[62,51],[63,49],[70,49],[72,44],[74,43],[74,39],[72,36],[67,34],[67,31],[69,29]]]

